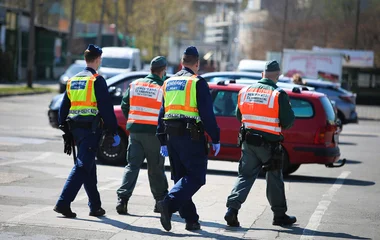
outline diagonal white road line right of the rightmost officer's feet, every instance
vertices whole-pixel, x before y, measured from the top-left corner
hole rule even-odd
[[[327,211],[335,193],[342,187],[344,180],[350,175],[350,171],[342,172],[339,177],[336,179],[334,185],[330,187],[325,194],[323,194],[322,200],[319,202],[317,208],[315,209],[313,215],[309,219],[309,223],[304,228],[301,240],[313,239],[314,233],[318,229],[319,224],[321,223],[322,217]]]

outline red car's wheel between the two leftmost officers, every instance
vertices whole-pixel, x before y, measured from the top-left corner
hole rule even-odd
[[[103,133],[104,134],[104,133]],[[128,138],[123,130],[118,129],[120,136],[120,145],[117,147],[108,147],[99,145],[97,159],[108,165],[122,165],[125,163],[125,156],[128,146]],[[103,137],[103,136],[102,136]]]

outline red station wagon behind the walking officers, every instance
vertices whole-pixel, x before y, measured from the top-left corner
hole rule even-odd
[[[246,85],[236,83],[209,83],[214,101],[214,113],[220,127],[221,150],[210,159],[239,161],[237,146],[240,122],[236,119],[239,91]],[[283,130],[285,149],[284,174],[296,171],[301,164],[319,163],[334,166],[339,160],[339,133],[336,115],[329,99],[321,93],[299,87],[284,89],[296,116],[292,128]]]

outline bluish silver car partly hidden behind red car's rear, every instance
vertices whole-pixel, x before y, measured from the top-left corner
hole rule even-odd
[[[343,123],[357,123],[356,94],[341,88],[339,85],[322,80],[303,79],[306,86],[313,87],[315,91],[327,95],[335,102],[338,110],[338,119]]]

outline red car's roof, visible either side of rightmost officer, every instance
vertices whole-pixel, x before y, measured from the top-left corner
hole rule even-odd
[[[217,83],[208,83],[210,89],[218,89],[218,90],[231,90],[231,91],[240,91],[243,87],[248,86],[248,84],[241,84],[241,83],[231,83],[231,84],[217,84]],[[278,83],[278,85],[280,85]],[[325,96],[323,93],[315,92],[315,91],[309,91],[309,90],[302,90],[301,88],[297,87],[299,85],[293,84],[296,89],[299,89],[300,91],[293,90],[294,88],[282,88],[286,93],[288,93],[289,96],[304,96],[304,97],[322,97]],[[280,86],[279,86],[280,87]],[[302,87],[302,86],[301,86]]]

